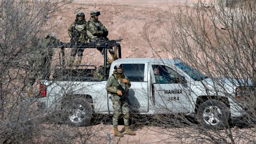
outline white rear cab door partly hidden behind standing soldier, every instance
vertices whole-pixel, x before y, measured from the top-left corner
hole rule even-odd
[[[122,63],[124,74],[131,82],[128,98],[130,111],[133,113],[146,113],[148,111],[148,82],[146,63]],[[111,94],[108,94],[111,98]],[[109,111],[113,111],[113,103],[109,99]]]

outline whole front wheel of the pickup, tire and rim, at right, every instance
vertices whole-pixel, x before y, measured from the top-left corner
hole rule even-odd
[[[197,111],[197,121],[208,129],[222,129],[228,126],[229,117],[229,108],[219,100],[207,100]]]

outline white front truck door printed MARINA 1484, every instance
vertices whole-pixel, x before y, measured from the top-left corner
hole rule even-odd
[[[188,113],[189,91],[185,77],[174,70],[175,66],[150,63],[156,113]]]

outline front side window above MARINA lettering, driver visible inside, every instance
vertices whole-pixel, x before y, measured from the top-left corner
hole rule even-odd
[[[164,65],[152,65],[157,84],[179,83],[179,74],[170,67]]]

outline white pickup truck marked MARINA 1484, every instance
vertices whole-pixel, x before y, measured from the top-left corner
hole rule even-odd
[[[131,82],[131,113],[191,115],[206,127],[223,127],[243,117],[235,84],[223,81],[223,87],[216,88],[210,78],[173,59],[118,59],[111,63],[109,75],[118,63],[123,64]],[[156,67],[165,81],[156,82]],[[93,113],[113,114],[111,94],[105,89],[107,80],[70,79],[41,81],[39,106],[46,112],[62,110],[63,118],[77,126],[88,124]]]

